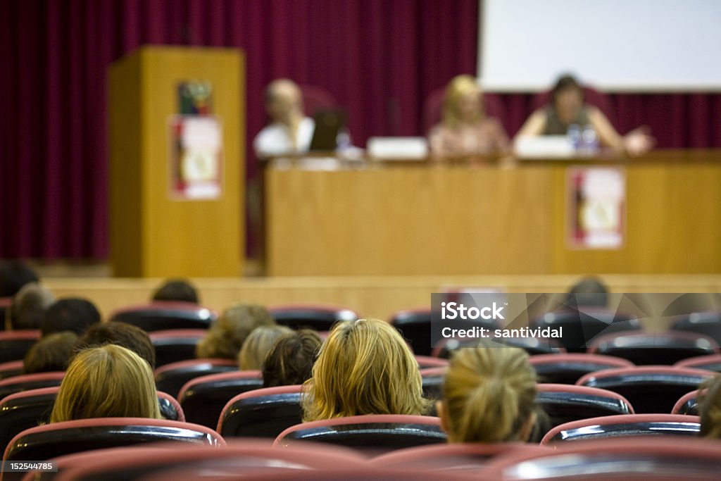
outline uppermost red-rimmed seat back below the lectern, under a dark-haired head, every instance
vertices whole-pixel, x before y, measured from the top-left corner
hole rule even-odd
[[[110,321],[127,322],[147,332],[169,329],[208,329],[218,313],[190,302],[154,301],[125,307],[110,314]]]

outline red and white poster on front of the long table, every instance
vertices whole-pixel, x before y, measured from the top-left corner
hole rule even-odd
[[[569,167],[567,244],[620,249],[626,229],[626,172],[619,167]]]

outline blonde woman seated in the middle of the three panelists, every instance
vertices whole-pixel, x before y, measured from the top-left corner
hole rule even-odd
[[[510,145],[500,121],[487,117],[481,88],[469,75],[456,76],[446,87],[443,120],[431,129],[428,143],[435,159],[503,153]]]

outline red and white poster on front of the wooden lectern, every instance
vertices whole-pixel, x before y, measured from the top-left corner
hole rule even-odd
[[[220,198],[223,193],[220,120],[213,115],[172,115],[168,125],[170,198]]]

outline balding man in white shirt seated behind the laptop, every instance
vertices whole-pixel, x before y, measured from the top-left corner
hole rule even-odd
[[[303,96],[289,79],[277,79],[265,89],[265,110],[271,123],[253,140],[259,158],[307,152],[315,130],[303,112]]]

